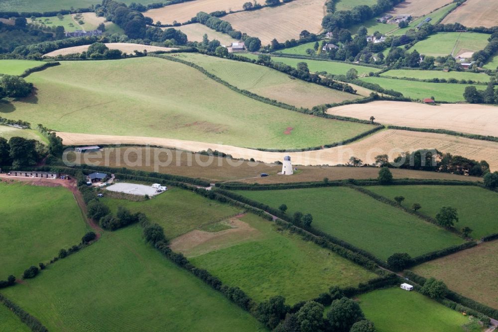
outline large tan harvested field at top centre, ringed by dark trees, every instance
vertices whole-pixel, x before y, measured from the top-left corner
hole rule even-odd
[[[302,30],[318,33],[322,29],[324,0],[296,0],[276,7],[265,7],[224,16],[233,28],[261,39],[263,45],[273,38],[283,42],[298,39]]]

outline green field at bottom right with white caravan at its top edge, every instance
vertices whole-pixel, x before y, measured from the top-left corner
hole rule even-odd
[[[479,332],[464,330],[468,317],[446,308],[417,292],[398,287],[376,290],[359,296],[365,317],[378,332]]]

